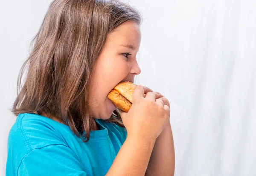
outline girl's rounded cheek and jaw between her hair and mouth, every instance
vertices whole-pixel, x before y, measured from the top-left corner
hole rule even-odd
[[[107,95],[129,73],[129,65],[120,57],[100,58],[91,79],[90,110],[95,117],[111,115],[113,107]]]

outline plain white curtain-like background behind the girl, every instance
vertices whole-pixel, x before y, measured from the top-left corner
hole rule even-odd
[[[0,168],[17,75],[51,0],[0,1]],[[256,176],[256,1],[130,0],[143,15],[137,84],[171,103],[175,176]]]

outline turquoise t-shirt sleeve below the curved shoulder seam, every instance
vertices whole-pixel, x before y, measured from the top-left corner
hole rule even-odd
[[[34,149],[21,161],[18,176],[87,176],[69,147],[57,144]]]

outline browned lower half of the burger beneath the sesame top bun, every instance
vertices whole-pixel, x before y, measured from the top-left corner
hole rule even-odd
[[[113,89],[108,94],[108,99],[110,99],[116,107],[124,112],[128,112],[131,108],[131,102],[123,97],[117,90]]]

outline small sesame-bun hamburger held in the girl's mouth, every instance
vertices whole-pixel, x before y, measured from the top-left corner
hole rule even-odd
[[[117,84],[108,94],[108,99],[113,104],[124,112],[128,112],[132,105],[133,93],[136,84],[129,81],[124,81]]]

